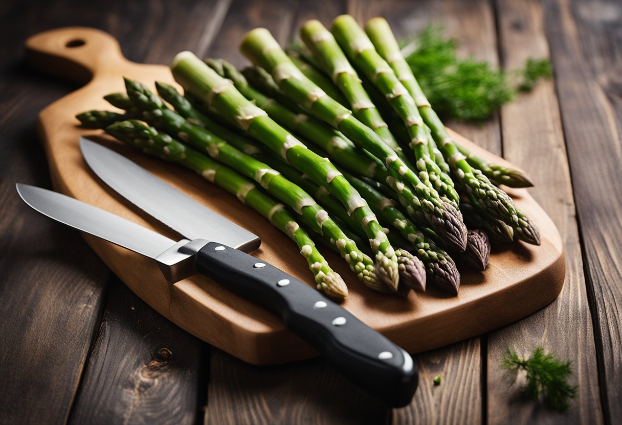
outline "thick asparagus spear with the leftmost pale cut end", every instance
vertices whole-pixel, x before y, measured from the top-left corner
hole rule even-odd
[[[193,53],[179,53],[171,68],[175,80],[185,90],[203,99],[220,116],[279,153],[318,185],[326,182],[330,193],[340,200],[368,235],[376,256],[376,274],[389,288],[397,290],[399,276],[395,250],[367,203],[329,160],[307,149],[287,130],[272,121],[265,111],[244,98],[230,80],[222,78]]]

